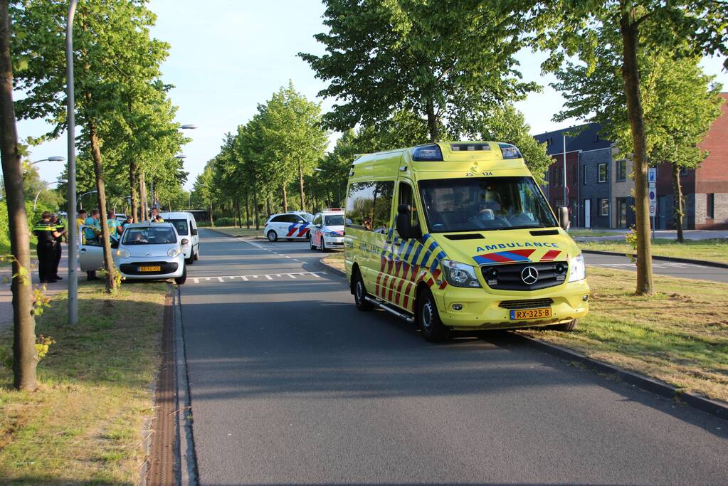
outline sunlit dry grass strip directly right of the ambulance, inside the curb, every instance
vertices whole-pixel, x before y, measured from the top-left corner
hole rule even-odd
[[[728,402],[728,285],[658,276],[633,295],[636,273],[589,267],[590,313],[573,332],[521,331]]]

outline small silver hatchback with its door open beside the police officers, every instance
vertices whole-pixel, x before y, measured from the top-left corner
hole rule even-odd
[[[181,285],[187,279],[186,246],[191,246],[189,237],[179,236],[171,223],[130,224],[119,243],[112,244],[114,266],[127,280],[175,279]],[[81,244],[79,266],[82,271],[103,268],[103,247],[90,240]]]

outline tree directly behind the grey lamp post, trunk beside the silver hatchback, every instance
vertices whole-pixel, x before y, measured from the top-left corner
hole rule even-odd
[[[116,287],[116,279],[106,226],[103,134],[127,100],[159,76],[169,49],[151,39],[149,28],[156,17],[145,4],[146,0],[86,0],[79,4],[74,25],[76,119],[82,127],[82,149],[93,161],[108,292]],[[13,15],[18,25],[13,50],[23,66],[16,87],[27,95],[17,103],[18,114],[50,119],[55,127],[47,137],[57,136],[66,124],[66,80],[48,73],[62,73],[65,65],[66,6],[28,0],[15,7]]]

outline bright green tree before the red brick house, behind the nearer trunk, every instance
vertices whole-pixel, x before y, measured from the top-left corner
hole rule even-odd
[[[596,48],[593,69],[566,63],[556,73],[553,87],[566,97],[558,121],[577,117],[601,124],[603,134],[617,143],[622,153],[633,147],[627,102],[619,69],[620,52],[614,31],[602,28],[603,43]],[[608,40],[608,41],[607,41]],[[644,111],[645,150],[653,166],[672,165],[675,226],[683,241],[684,198],[680,170],[695,169],[707,154],[697,148],[720,115],[720,86],[700,68],[700,57],[673,59],[665,48],[638,53],[640,94]]]

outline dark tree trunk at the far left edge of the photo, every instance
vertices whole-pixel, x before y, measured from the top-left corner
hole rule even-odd
[[[31,248],[28,215],[23,197],[23,169],[17,150],[15,108],[12,101],[12,61],[10,59],[10,19],[7,0],[0,1],[0,155],[5,183],[5,200],[10,231],[12,262],[12,370],[13,386],[35,391],[36,320],[33,317],[31,288]],[[72,217],[72,216],[71,216]],[[24,274],[24,272],[27,272]]]

